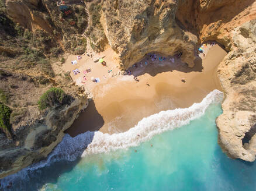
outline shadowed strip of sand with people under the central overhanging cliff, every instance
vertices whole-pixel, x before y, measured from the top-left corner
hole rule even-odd
[[[172,72],[177,70],[179,72],[202,72],[203,65],[202,59],[196,56],[194,61],[195,66],[189,68],[188,65],[178,58],[178,55],[174,56],[161,56],[156,54],[155,60],[153,61],[152,56],[147,54],[140,62],[134,63],[127,71],[131,71],[134,77],[138,77],[148,73],[150,76],[155,76],[162,72]],[[164,59],[164,60],[162,60]]]

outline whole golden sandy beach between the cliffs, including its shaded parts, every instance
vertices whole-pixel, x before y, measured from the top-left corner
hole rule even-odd
[[[70,70],[72,79],[91,92],[93,99],[66,132],[71,136],[87,130],[110,134],[124,132],[146,116],[189,107],[202,101],[210,91],[221,90],[216,70],[227,53],[219,45],[212,47],[208,44],[202,48],[205,56],[197,57],[194,68],[188,68],[177,56],[168,56],[161,61],[158,59],[161,55],[155,53],[155,61],[147,55],[137,62],[136,67],[130,68],[132,75],[120,75],[111,48],[101,54],[82,55],[79,60],[77,55],[69,56],[62,69]],[[94,62],[103,56],[108,66]],[[75,59],[78,63],[71,65]],[[74,75],[74,69],[80,73]],[[86,69],[91,72],[84,72]],[[100,82],[92,82],[92,77],[98,77]]]

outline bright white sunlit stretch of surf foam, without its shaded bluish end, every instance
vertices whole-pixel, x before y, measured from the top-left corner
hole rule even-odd
[[[120,148],[139,146],[141,142],[151,139],[154,135],[187,125],[193,119],[202,116],[210,104],[219,103],[222,99],[223,93],[219,90],[214,90],[203,98],[202,102],[195,103],[189,108],[161,111],[158,114],[143,118],[134,128],[127,132],[113,135],[95,132],[92,143],[88,145],[82,157],[87,154],[104,153]]]

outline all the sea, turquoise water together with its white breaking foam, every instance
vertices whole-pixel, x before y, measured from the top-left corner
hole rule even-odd
[[[255,163],[231,160],[217,144],[221,100],[215,90],[117,135],[67,135],[47,160],[2,179],[1,189],[256,190]]]

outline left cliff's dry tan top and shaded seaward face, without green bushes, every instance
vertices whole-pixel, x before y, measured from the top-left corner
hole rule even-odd
[[[0,70],[0,73],[0,89],[3,90],[8,84],[18,84],[13,91],[20,96],[17,101],[12,96],[12,91],[9,91],[9,100],[5,101],[5,105],[12,109],[12,137],[8,139],[4,133],[0,133],[0,178],[3,178],[47,157],[61,142],[64,130],[88,106],[88,100],[81,89],[62,87],[68,92],[63,104],[40,111],[37,107],[38,97],[49,87],[38,89],[33,79],[27,75],[6,70]],[[14,100],[19,106],[12,107],[9,104]]]

